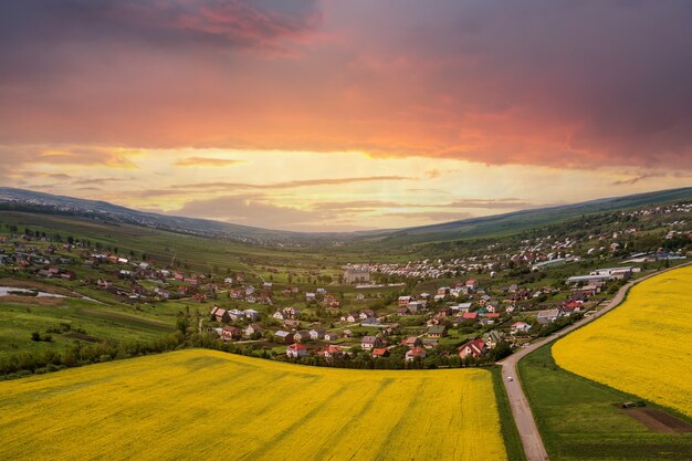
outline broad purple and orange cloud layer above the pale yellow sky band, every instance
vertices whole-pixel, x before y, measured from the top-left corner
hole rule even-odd
[[[7,0],[0,138],[691,170],[690,23],[684,0]]]

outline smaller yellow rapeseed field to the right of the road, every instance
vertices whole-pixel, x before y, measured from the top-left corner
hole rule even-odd
[[[692,416],[692,266],[632,287],[553,346],[560,367]]]

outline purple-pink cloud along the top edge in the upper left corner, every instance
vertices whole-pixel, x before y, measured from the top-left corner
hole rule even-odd
[[[161,48],[272,48],[300,39],[321,21],[312,0],[7,0],[0,11],[6,34],[25,41],[136,41]]]

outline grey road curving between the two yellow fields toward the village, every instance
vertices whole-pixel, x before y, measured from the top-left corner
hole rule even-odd
[[[547,461],[548,453],[545,450],[545,446],[543,444],[543,439],[541,438],[541,432],[538,432],[538,428],[536,427],[536,421],[531,411],[531,406],[528,405],[528,400],[526,400],[526,396],[524,395],[524,389],[520,383],[520,376],[516,373],[516,364],[526,355],[533,353],[538,347],[544,346],[548,343],[554,342],[555,339],[565,336],[569,332],[573,332],[585,324],[600,317],[607,312],[611,311],[616,306],[618,306],[629,289],[631,289],[635,284],[642,282],[647,279],[650,279],[654,275],[662,274],[663,272],[668,272],[674,269],[680,269],[685,265],[690,265],[692,263],[684,263],[677,265],[674,268],[669,268],[662,271],[653,272],[649,275],[646,275],[641,279],[632,280],[627,282],[608,302],[606,307],[597,311],[590,317],[585,317],[579,322],[569,325],[559,332],[553,333],[551,336],[542,338],[531,344],[531,346],[522,348],[521,350],[512,354],[505,359],[497,363],[497,365],[502,366],[502,381],[504,383],[504,387],[507,390],[507,396],[510,398],[510,406],[512,407],[512,415],[514,416],[514,422],[516,423],[516,429],[518,430],[520,438],[522,439],[522,444],[524,446],[524,452],[526,453],[527,461]],[[507,378],[512,378],[510,381]]]

